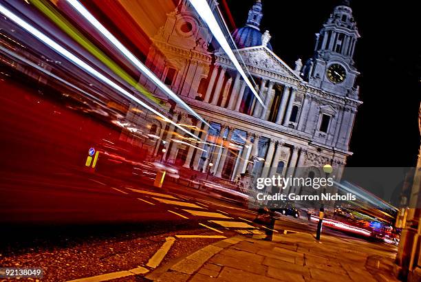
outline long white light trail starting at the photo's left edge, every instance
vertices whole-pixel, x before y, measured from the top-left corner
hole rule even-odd
[[[114,89],[118,90],[121,94],[127,96],[128,98],[130,98],[131,100],[133,100],[135,102],[138,102],[138,104],[142,105],[142,107],[144,107],[146,109],[149,109],[149,111],[152,111],[156,115],[160,116],[166,122],[170,122],[171,124],[174,124],[175,127],[177,127],[179,129],[181,129],[182,131],[188,133],[192,137],[197,138],[197,140],[201,140],[199,137],[197,137],[196,135],[194,135],[190,131],[184,129],[183,127],[180,127],[177,123],[173,122],[169,118],[166,118],[166,116],[162,115],[162,113],[160,113],[159,111],[156,111],[155,109],[153,109],[149,105],[145,104],[144,102],[142,102],[141,100],[139,100],[138,98],[136,98],[136,96],[133,96],[128,91],[126,91],[122,87],[118,86],[116,83],[112,82],[111,80],[109,80],[104,75],[100,74],[100,72],[96,71],[93,67],[91,67],[87,63],[85,63],[82,60],[80,60],[80,58],[74,56],[74,54],[72,54],[69,51],[65,50],[65,48],[63,48],[61,45],[58,45],[58,43],[56,43],[55,41],[53,41],[52,39],[50,39],[50,37],[46,36],[45,34],[43,34],[42,32],[40,32],[39,30],[37,30],[36,28],[34,28],[32,25],[30,25],[26,21],[23,21],[23,19],[19,18],[13,12],[10,12],[10,10],[8,10],[7,8],[5,8],[1,4],[0,4],[0,12],[2,14],[4,14],[6,17],[8,17],[10,20],[12,20],[15,23],[17,23],[17,25],[21,26],[21,28],[23,28],[23,29],[27,30],[28,32],[30,32],[30,34],[32,34],[33,36],[35,36],[37,39],[43,41],[43,43],[45,43],[46,45],[52,47],[52,49],[55,50],[56,52],[58,52],[58,54],[61,54],[62,56],[65,56],[66,58],[69,59],[69,61],[72,61],[75,65],[78,65],[78,67],[80,67],[82,69],[85,69],[85,71],[89,72],[93,76],[96,76],[96,78],[102,80],[104,83],[107,83],[107,85],[109,85],[109,86],[113,87]]]

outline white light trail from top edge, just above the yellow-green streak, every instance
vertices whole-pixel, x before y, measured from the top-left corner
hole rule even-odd
[[[67,0],[67,2],[70,5],[72,5],[72,7],[76,11],[78,11],[87,21],[89,21],[89,23],[91,23],[91,25],[93,25],[94,28],[96,28],[96,30],[98,30],[103,36],[105,36],[105,38],[108,39],[108,41],[111,42],[111,44],[116,46],[118,50],[120,50],[120,52],[122,52],[122,54],[124,54],[129,59],[129,61],[131,61],[131,63],[136,65],[136,67],[138,67],[142,74],[147,76],[149,79],[153,80],[153,82],[158,87],[160,87],[160,89],[164,91],[164,93],[166,93],[170,98],[174,99],[175,102],[178,102],[180,105],[182,105],[182,107],[184,107],[184,109],[192,113],[193,116],[195,116],[200,121],[204,122],[206,125],[211,127],[210,124],[208,124],[206,120],[204,120],[201,116],[199,116],[198,113],[196,113],[190,106],[188,106],[186,102],[180,99],[180,97],[178,97],[173,91],[171,91],[169,87],[162,83],[162,81],[157,76],[155,76],[155,74],[153,74],[153,72],[151,72],[150,69],[143,65],[138,60],[138,58],[136,58],[136,56],[131,54],[131,52],[124,45],[122,45],[122,43],[120,43],[120,41],[118,41],[118,39],[116,39],[116,37],[113,34],[111,34],[111,32],[109,32],[88,10],[86,10],[86,8],[81,3],[79,3],[76,0]]]

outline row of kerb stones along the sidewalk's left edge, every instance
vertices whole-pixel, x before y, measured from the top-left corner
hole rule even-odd
[[[169,261],[144,278],[151,281],[186,281],[215,254],[246,239],[246,237],[234,236],[211,243],[191,254]]]

